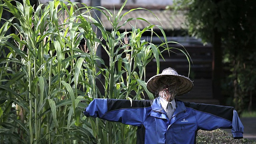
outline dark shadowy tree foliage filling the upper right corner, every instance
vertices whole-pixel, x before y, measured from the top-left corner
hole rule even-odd
[[[203,42],[216,42],[220,36],[222,62],[225,70],[223,84],[232,88],[234,104],[239,113],[256,91],[256,2],[253,0],[175,0],[176,8],[186,10],[188,31]],[[217,33],[215,32],[217,31]],[[220,65],[218,65],[220,66]],[[218,67],[217,66],[217,67]],[[228,87],[224,87],[228,91]],[[250,97],[250,98],[249,98]]]

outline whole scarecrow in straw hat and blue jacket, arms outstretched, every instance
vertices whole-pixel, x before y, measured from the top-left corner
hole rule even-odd
[[[182,102],[175,96],[193,88],[192,81],[173,68],[153,76],[147,89],[154,100],[94,99],[85,116],[138,126],[137,144],[194,144],[198,130],[231,128],[233,138],[243,138],[244,126],[229,106]]]

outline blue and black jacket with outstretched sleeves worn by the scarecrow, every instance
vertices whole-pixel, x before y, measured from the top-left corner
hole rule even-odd
[[[176,100],[169,120],[159,97],[152,100],[94,99],[85,116],[138,126],[137,144],[194,144],[198,130],[232,128],[234,138],[243,138],[244,126],[229,106],[196,104]]]

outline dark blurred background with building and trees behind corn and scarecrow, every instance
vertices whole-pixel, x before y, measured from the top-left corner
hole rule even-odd
[[[22,0],[20,0],[22,2]],[[88,6],[103,6],[112,12],[122,6],[124,0],[70,0]],[[47,4],[49,0],[30,0],[31,5]],[[36,7],[35,6],[35,7]],[[180,51],[164,52],[160,71],[172,67],[194,82],[193,90],[179,99],[189,102],[235,106],[239,114],[255,111],[256,102],[256,2],[253,0],[128,0],[123,13],[135,10],[124,17],[146,19],[150,24],[160,25],[168,41],[178,42],[170,47],[184,49],[190,54],[191,67]],[[97,14],[97,12],[95,12]],[[3,18],[10,18],[3,14]],[[107,30],[112,29],[106,17],[100,18]],[[120,31],[132,27],[143,29],[145,21],[132,21]],[[11,30],[10,30],[11,31]],[[160,30],[154,30],[161,34]],[[151,35],[145,33],[144,39]],[[161,40],[153,36],[152,43]],[[182,46],[181,46],[181,45]],[[183,48],[184,47],[184,48]],[[98,52],[104,58],[104,54]],[[154,59],[147,66],[147,78],[156,74]]]

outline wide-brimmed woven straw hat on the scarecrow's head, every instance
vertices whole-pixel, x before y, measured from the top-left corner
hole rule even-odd
[[[161,74],[157,74],[148,80],[147,82],[148,91],[152,92],[153,94],[156,94],[160,85],[159,79],[162,78],[163,76],[174,76],[179,79],[178,93],[176,94],[176,96],[186,94],[194,86],[193,82],[186,76],[179,75],[178,72],[173,68],[166,68],[162,71]]]

